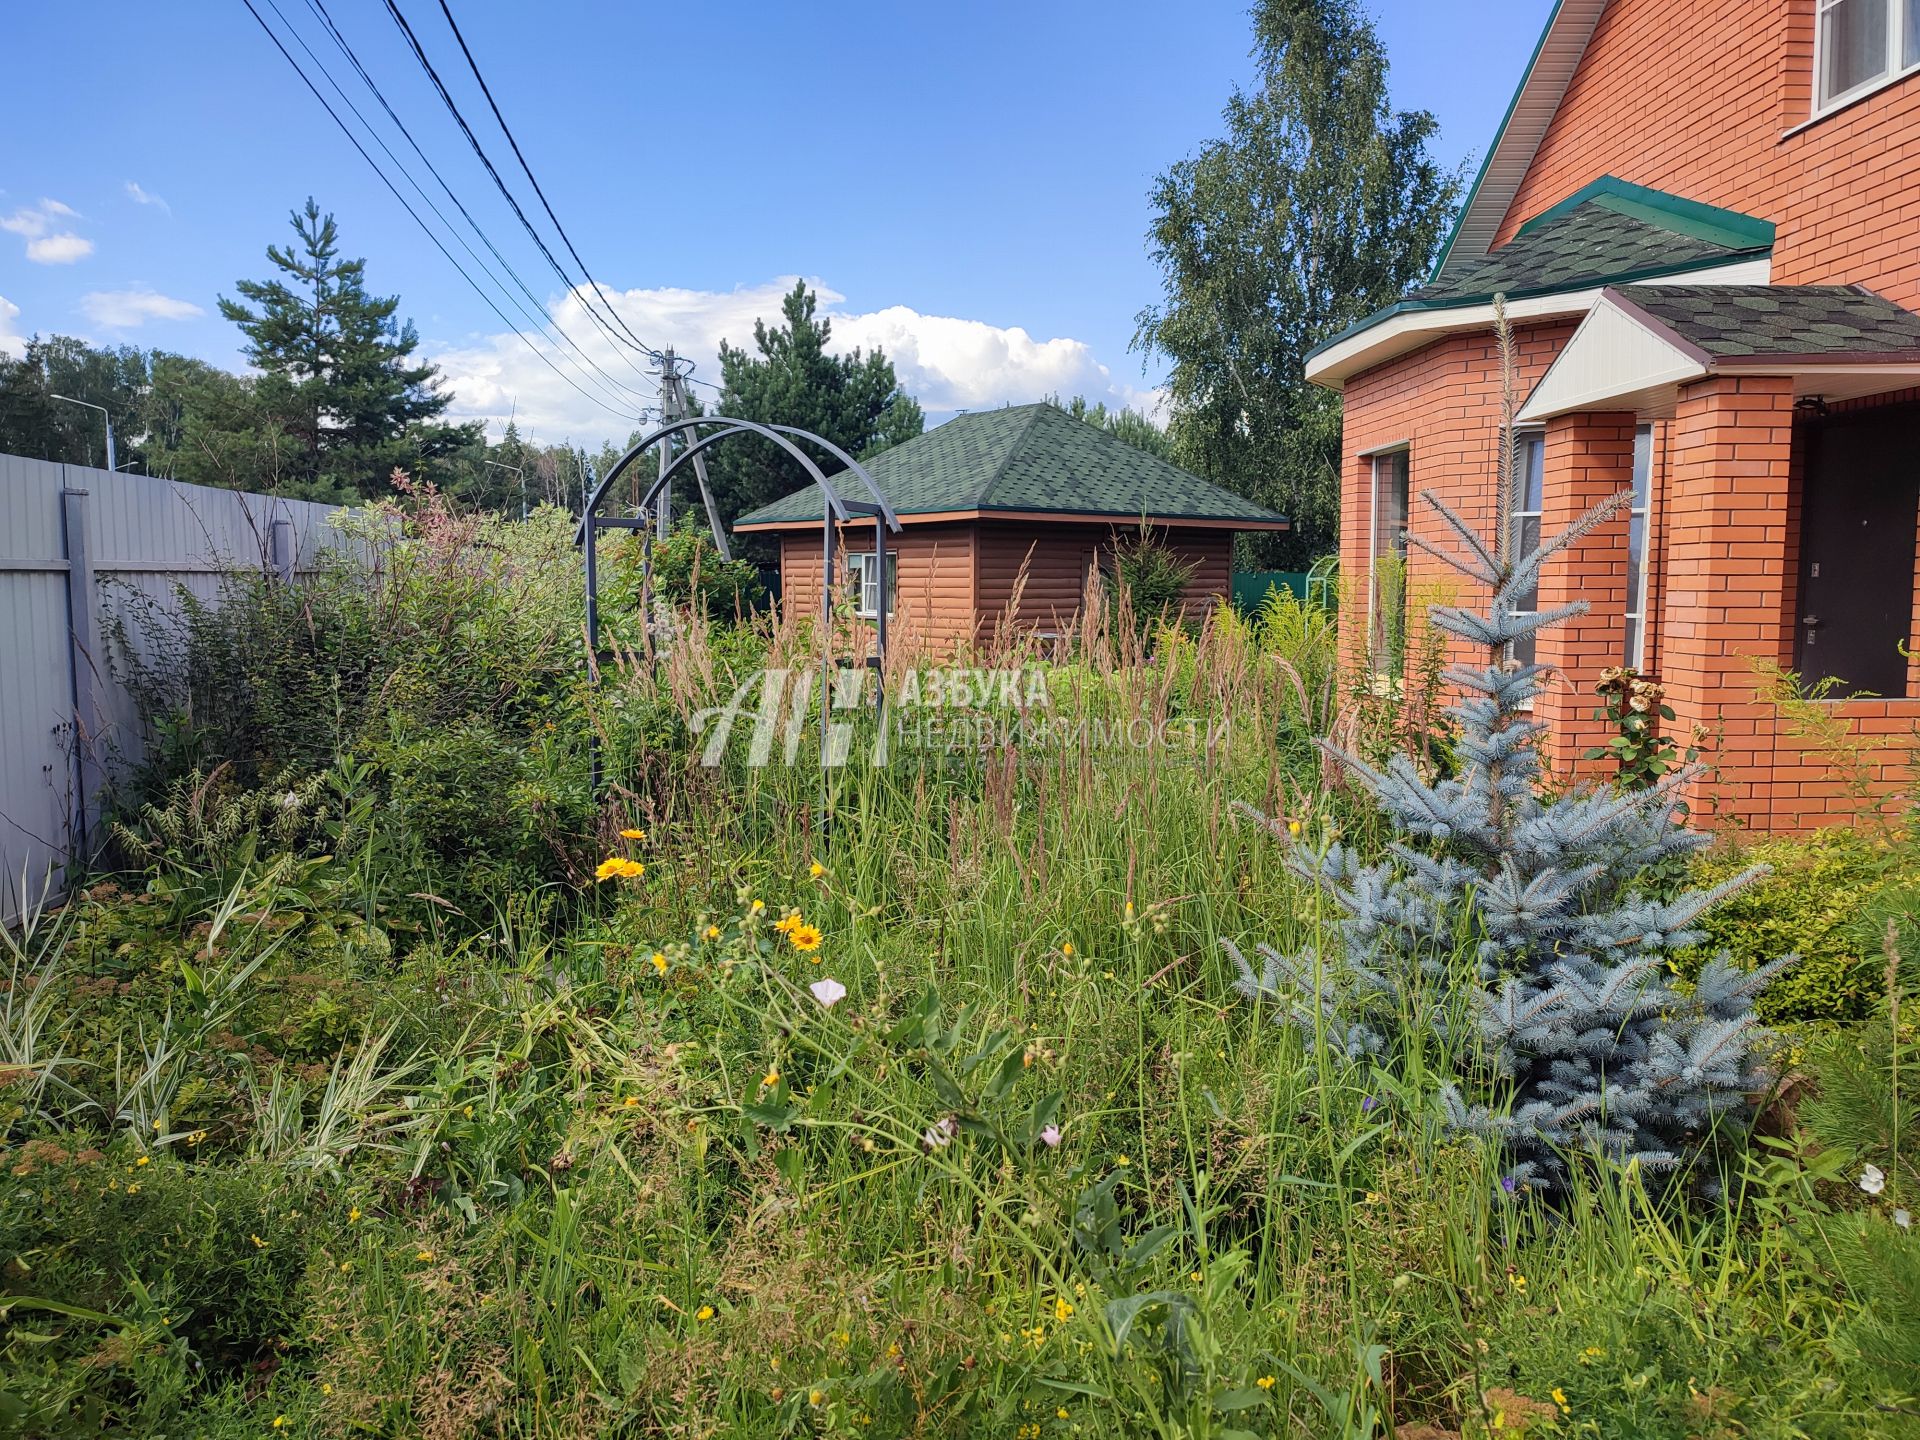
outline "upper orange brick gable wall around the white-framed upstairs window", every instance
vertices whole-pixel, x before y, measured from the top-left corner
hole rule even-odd
[[[1496,244],[1615,175],[1772,221],[1776,284],[1864,284],[1920,309],[1920,75],[1805,125],[1812,8],[1613,0]]]

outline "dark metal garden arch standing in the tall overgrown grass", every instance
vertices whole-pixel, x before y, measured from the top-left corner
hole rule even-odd
[[[707,434],[701,434],[707,430]],[[639,497],[630,516],[601,515],[601,501],[612,488],[628,467],[634,465],[641,455],[645,455],[655,445],[666,445],[672,449],[676,436],[684,436],[684,444],[678,455],[670,455],[660,465],[659,474],[647,492]],[[822,524],[820,524],[820,741],[822,756],[826,755],[828,739],[828,697],[833,684],[833,561],[837,543],[837,524],[849,524],[856,516],[874,520],[874,551],[877,555],[876,564],[879,566],[881,588],[885,589],[887,576],[887,532],[900,532],[900,518],[893,513],[887,503],[885,493],[874,484],[874,476],[849,455],[845,449],[835,445],[824,436],[816,436],[812,430],[801,430],[791,424],[760,424],[758,420],[737,420],[728,415],[689,415],[685,419],[668,420],[653,434],[645,436],[636,444],[626,455],[612,463],[612,468],[599,478],[593,492],[586,499],[586,509],[580,516],[580,528],[574,532],[574,543],[582,545],[586,551],[586,582],[588,582],[588,676],[593,684],[599,684],[599,563],[595,557],[595,540],[599,540],[601,530],[634,530],[641,536],[641,568],[639,568],[639,603],[643,624],[653,624],[653,532],[655,532],[655,513],[653,507],[659,503],[662,493],[672,493],[670,486],[674,476],[680,474],[689,465],[697,468],[701,480],[701,495],[707,501],[707,522],[712,526],[714,545],[722,557],[730,555],[726,543],[726,532],[720,526],[720,513],[712,505],[712,495],[707,493],[707,467],[701,457],[722,440],[732,440],[733,436],[762,436],[776,445],[780,445],[787,455],[799,463],[801,470],[808,480],[820,490],[824,497]],[[870,501],[847,499],[828,484],[826,472],[814,463],[814,459],[801,449],[799,444],[804,442],[826,451],[847,470],[866,486],[872,495]],[[881,603],[876,607],[877,614],[874,618],[876,634],[876,653],[868,659],[868,664],[879,670],[887,659],[887,601],[881,595]],[[876,685],[876,708],[885,707],[885,684]],[[599,747],[593,751],[593,789],[599,791],[601,785],[601,762]]]

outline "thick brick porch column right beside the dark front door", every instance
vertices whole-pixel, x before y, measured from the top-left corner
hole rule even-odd
[[[1774,724],[1753,699],[1751,657],[1778,659],[1788,588],[1793,382],[1713,378],[1686,386],[1668,438],[1661,680],[1676,737],[1716,732],[1701,758],[1693,824],[1768,829]]]

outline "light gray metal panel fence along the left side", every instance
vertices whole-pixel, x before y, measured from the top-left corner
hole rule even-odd
[[[342,543],[330,505],[0,455],[0,920],[98,841],[115,764],[140,758],[115,680],[129,605],[213,601],[223,576],[292,582]]]

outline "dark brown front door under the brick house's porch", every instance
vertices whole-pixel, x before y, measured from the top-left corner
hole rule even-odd
[[[1920,413],[1811,424],[1805,474],[1793,664],[1809,684],[1832,678],[1847,691],[1905,695]]]

